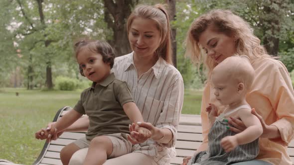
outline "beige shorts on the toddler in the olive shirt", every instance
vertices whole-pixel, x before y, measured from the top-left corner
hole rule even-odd
[[[103,136],[108,137],[112,142],[112,153],[108,157],[108,159],[116,158],[116,157],[131,153],[132,143],[128,140],[127,134],[115,133],[115,134],[106,134]],[[83,149],[83,148],[88,148],[91,141],[87,140],[86,137],[84,137],[84,138],[76,140],[73,143],[77,145],[80,149]]]

